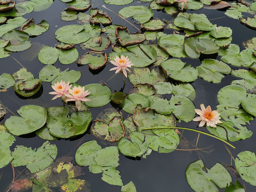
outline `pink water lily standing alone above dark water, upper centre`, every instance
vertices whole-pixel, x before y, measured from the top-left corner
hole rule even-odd
[[[110,61],[113,65],[115,65],[116,67],[111,68],[111,70],[116,70],[116,73],[120,72],[123,73],[125,77],[127,77],[127,71],[131,72],[130,69],[128,69],[128,67],[132,67],[134,64],[129,61],[128,57],[124,57],[124,55],[121,55],[121,58],[119,58],[118,56],[116,56],[115,61]]]

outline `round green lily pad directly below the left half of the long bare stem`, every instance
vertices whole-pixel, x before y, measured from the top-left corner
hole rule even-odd
[[[179,135],[172,129],[152,130],[155,135],[146,135],[149,148],[158,153],[171,153],[180,143]]]

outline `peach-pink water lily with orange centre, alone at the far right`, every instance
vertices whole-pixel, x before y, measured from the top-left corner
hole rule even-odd
[[[201,107],[201,110],[195,109],[196,114],[198,114],[199,117],[195,117],[193,119],[193,121],[196,121],[196,122],[201,121],[199,123],[199,126],[204,126],[206,123],[207,126],[216,127],[216,124],[222,123],[220,121],[221,117],[220,117],[220,114],[218,113],[218,110],[212,111],[210,106],[208,106],[205,109],[204,104],[201,104],[200,107]]]

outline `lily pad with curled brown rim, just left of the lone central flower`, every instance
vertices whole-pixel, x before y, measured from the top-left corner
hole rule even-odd
[[[80,55],[76,62],[78,65],[89,64],[90,69],[98,70],[106,65],[107,60],[106,53],[91,51]]]

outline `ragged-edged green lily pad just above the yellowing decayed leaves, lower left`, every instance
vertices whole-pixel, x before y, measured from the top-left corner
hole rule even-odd
[[[32,150],[31,147],[16,146],[12,152],[12,164],[16,166],[26,166],[31,173],[44,170],[52,164],[57,156],[57,147],[50,145],[49,141],[43,143],[38,149]]]

